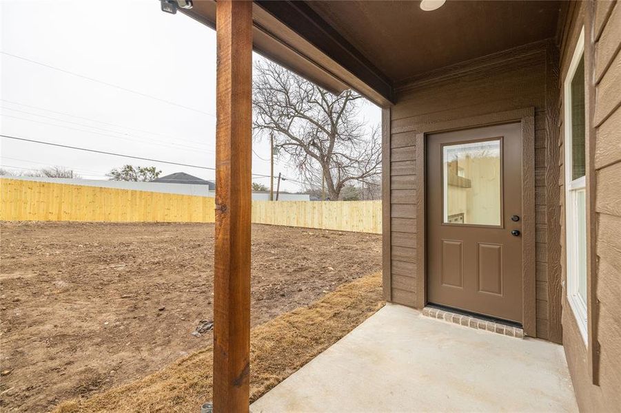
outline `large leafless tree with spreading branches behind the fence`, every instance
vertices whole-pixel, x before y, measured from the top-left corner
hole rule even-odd
[[[274,135],[307,186],[322,187],[338,200],[348,184],[375,184],[380,173],[379,126],[360,122],[358,100],[347,90],[338,96],[276,63],[256,63],[253,81],[254,130],[258,139]]]

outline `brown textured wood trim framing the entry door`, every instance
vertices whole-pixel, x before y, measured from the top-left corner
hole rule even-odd
[[[522,329],[524,334],[536,337],[536,279],[535,279],[535,108],[525,107],[507,112],[496,112],[470,118],[447,120],[418,125],[416,134],[416,306],[427,304],[427,136],[440,132],[520,122],[522,125]]]

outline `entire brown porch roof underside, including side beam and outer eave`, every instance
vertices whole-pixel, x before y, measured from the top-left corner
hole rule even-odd
[[[554,37],[562,1],[255,0],[257,52],[334,93],[352,88],[378,105],[413,78],[480,56]],[[215,25],[214,1],[191,17]]]

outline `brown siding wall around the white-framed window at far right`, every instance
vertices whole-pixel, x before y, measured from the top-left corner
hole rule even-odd
[[[589,285],[592,344],[591,348],[584,344],[564,290],[563,344],[580,410],[612,412],[621,405],[621,4],[584,2],[570,16],[562,43],[560,87],[583,24],[585,63],[590,63],[585,69],[592,75],[587,76],[589,104],[593,105],[589,128],[593,165],[589,171],[595,175],[591,187],[595,210],[591,260],[595,262]],[[561,135],[562,130],[561,126]],[[560,191],[564,194],[562,157],[559,165]],[[564,208],[561,217],[560,240],[564,245]],[[565,254],[563,249],[563,277]]]

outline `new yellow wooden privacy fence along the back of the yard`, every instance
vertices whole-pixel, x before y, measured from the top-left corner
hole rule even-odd
[[[214,198],[0,178],[0,220],[214,222]],[[252,222],[382,232],[381,201],[252,201]]]

